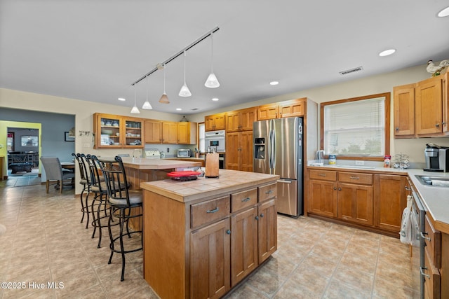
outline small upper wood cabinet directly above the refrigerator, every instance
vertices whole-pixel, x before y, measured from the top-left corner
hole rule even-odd
[[[267,104],[257,107],[257,120],[289,118],[304,116],[306,99],[290,99],[288,101]]]

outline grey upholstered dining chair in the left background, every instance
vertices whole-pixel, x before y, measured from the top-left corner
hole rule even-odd
[[[55,188],[59,187],[59,193],[62,193],[62,188],[65,186],[64,181],[70,180],[70,186],[75,178],[75,173],[67,170],[62,170],[61,162],[58,157],[41,157],[41,162],[46,175],[46,192],[50,184],[56,184]],[[68,185],[68,184],[66,184]]]

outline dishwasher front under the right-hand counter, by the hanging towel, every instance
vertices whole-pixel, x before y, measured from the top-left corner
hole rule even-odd
[[[413,196],[412,215],[413,223],[416,223],[413,231],[413,246],[412,246],[412,267],[413,267],[413,282],[420,285],[419,298],[424,298],[424,279],[429,277],[426,273],[427,269],[424,266],[424,246],[426,245],[424,238],[425,232],[425,216],[426,211],[421,202],[420,196],[417,194],[413,184],[410,184]]]

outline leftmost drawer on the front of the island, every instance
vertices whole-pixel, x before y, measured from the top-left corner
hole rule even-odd
[[[204,223],[209,223],[223,218],[229,214],[231,202],[229,195],[225,197],[199,202],[190,206],[190,226],[196,228]]]

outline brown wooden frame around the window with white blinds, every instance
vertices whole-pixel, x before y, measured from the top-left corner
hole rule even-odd
[[[328,105],[343,104],[349,102],[363,101],[365,99],[374,99],[378,97],[384,97],[384,115],[385,115],[385,155],[390,154],[390,106],[391,106],[391,93],[384,92],[375,95],[366,95],[363,97],[352,97],[349,99],[338,99],[336,101],[323,102],[320,104],[320,148],[324,148],[324,108]],[[329,155],[324,155],[324,158],[328,159]],[[367,160],[367,161],[383,161],[384,157],[368,157],[365,155],[338,155],[340,160]]]

